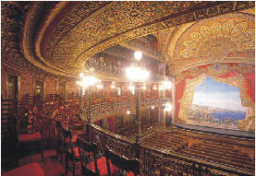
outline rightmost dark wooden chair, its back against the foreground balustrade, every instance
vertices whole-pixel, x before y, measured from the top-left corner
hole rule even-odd
[[[140,160],[138,158],[125,158],[117,155],[106,147],[105,158],[108,176],[137,176],[140,173]]]

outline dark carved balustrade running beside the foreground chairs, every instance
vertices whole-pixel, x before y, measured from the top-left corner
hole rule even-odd
[[[135,140],[116,135],[95,124],[88,124],[87,129],[90,129],[87,131],[90,134],[88,140],[98,145],[100,155],[104,156],[104,148],[108,146],[127,158],[139,156],[140,175],[254,175],[253,170],[229,167],[201,158],[189,158],[177,154],[175,150],[136,145]]]

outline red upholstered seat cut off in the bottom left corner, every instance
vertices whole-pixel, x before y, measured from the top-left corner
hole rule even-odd
[[[4,176],[44,176],[43,169],[38,163],[28,164],[15,170],[9,170],[3,174]]]

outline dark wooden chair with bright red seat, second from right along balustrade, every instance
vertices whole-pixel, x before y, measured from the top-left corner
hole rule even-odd
[[[107,176],[105,158],[97,158],[97,145],[78,138],[79,156],[83,176]]]

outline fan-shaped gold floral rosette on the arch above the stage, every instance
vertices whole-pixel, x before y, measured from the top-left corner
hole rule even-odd
[[[248,29],[248,22],[236,24],[229,19],[223,24],[213,22],[211,27],[201,26],[200,31],[190,33],[190,40],[184,41],[184,58],[206,56],[209,61],[219,62],[228,53],[254,51],[255,29]]]

